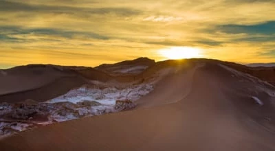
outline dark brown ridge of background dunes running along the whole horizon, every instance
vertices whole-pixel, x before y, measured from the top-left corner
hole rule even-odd
[[[89,80],[108,82],[133,82],[146,80],[157,71],[179,65],[188,66],[194,62],[215,62],[219,60],[191,59],[155,62],[148,58],[137,58],[132,61],[118,62],[113,65],[91,67],[61,67],[55,65],[28,65],[1,70],[0,102],[21,102],[26,99],[40,102],[50,100],[67,91],[89,83]],[[186,63],[184,63],[186,62]],[[249,73],[261,80],[274,84],[274,67],[246,67],[231,62],[223,62],[238,71]],[[113,72],[118,71],[120,72]],[[170,82],[168,82],[170,83]],[[45,95],[44,95],[45,94]]]

